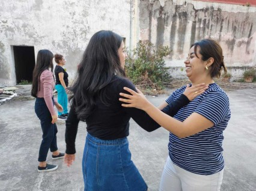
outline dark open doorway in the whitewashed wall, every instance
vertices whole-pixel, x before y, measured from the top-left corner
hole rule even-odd
[[[35,67],[35,50],[29,46],[13,46],[15,73],[17,84],[22,81],[32,81]]]

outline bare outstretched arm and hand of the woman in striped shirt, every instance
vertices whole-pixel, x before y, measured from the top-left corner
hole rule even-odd
[[[127,87],[124,87],[124,89],[132,95],[120,93],[121,96],[128,98],[120,98],[120,101],[127,103],[122,104],[123,107],[136,107],[144,110],[150,117],[159,123],[160,126],[170,131],[177,137],[188,137],[204,131],[205,129],[208,129],[214,125],[212,121],[198,113],[192,113],[189,117],[187,117],[186,120],[184,120],[184,122],[180,122],[179,120],[168,116],[158,108],[154,107],[154,105],[151,104],[139,90],[139,93],[136,93]]]

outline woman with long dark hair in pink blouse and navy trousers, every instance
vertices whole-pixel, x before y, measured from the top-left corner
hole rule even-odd
[[[33,82],[31,95],[35,99],[35,113],[40,119],[41,129],[43,131],[43,140],[41,141],[38,156],[38,172],[54,171],[57,165],[46,163],[47,153],[52,152],[52,159],[61,159],[63,153],[58,151],[56,134],[58,132],[55,124],[58,116],[54,110],[54,105],[58,111],[63,108],[53,99],[53,88],[55,86],[53,77],[53,53],[49,50],[39,50],[37,53],[37,63],[33,71]]]

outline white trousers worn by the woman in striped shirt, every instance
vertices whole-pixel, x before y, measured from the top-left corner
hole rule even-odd
[[[224,169],[211,175],[186,171],[175,165],[168,156],[160,181],[160,191],[219,191]]]

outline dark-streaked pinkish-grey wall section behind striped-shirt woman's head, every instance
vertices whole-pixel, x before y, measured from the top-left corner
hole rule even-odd
[[[227,66],[256,65],[256,7],[191,0],[141,0],[142,40],[169,46],[168,66],[184,66],[190,44],[219,41]]]

